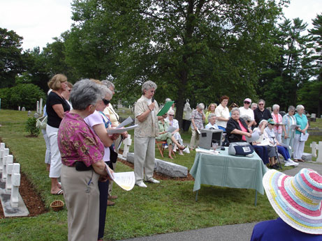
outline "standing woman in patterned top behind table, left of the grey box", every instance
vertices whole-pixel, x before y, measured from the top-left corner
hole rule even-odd
[[[203,110],[205,109],[205,104],[197,104],[196,109],[191,113],[191,139],[190,139],[190,150],[196,148],[199,144],[199,134],[198,130],[203,129],[203,120],[205,120],[205,114]]]

